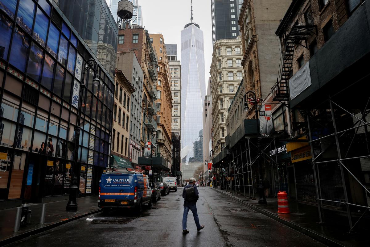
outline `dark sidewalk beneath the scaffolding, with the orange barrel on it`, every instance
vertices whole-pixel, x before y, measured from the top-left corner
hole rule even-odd
[[[226,192],[220,190],[220,188],[212,189],[231,197],[230,191]],[[234,193],[232,198],[328,246],[370,246],[369,214],[363,216],[357,223],[354,233],[349,233],[348,218],[345,211],[322,208],[325,223],[318,224],[319,216],[315,206],[289,201],[290,214],[278,214],[276,213],[277,198],[266,198],[267,206],[260,206],[258,205],[258,194],[255,194],[256,200],[248,199],[248,197],[248,193],[244,197],[242,192],[242,195]],[[356,223],[360,215],[352,215],[353,224]]]

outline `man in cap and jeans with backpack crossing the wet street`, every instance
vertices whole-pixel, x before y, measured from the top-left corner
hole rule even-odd
[[[192,177],[189,180],[189,184],[185,186],[182,191],[182,198],[184,198],[184,215],[182,216],[182,234],[189,233],[189,230],[186,229],[186,221],[188,220],[189,210],[193,213],[194,221],[198,231],[204,228],[204,225],[199,224],[198,213],[196,211],[196,201],[199,199],[198,188],[194,185],[195,178]]]

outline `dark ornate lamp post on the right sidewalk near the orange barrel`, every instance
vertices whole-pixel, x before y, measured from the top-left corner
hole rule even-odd
[[[266,197],[265,197],[265,191],[262,185],[262,176],[261,176],[261,171],[262,168],[260,168],[260,162],[259,162],[259,157],[260,157],[260,134],[259,134],[259,121],[258,121],[258,102],[259,100],[256,97],[256,94],[252,91],[248,91],[244,95],[244,111],[248,111],[248,101],[250,104],[254,104],[255,106],[255,114],[256,114],[256,127],[257,127],[257,151],[258,151],[258,156],[257,156],[257,166],[258,166],[258,176],[259,176],[259,186],[258,186],[258,193],[259,193],[259,199],[258,199],[258,204],[259,205],[267,205],[266,202]]]

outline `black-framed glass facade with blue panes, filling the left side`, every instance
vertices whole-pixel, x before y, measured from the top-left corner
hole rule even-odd
[[[58,5],[64,2],[58,0]],[[83,11],[76,4],[71,9],[82,13],[90,8],[97,14],[104,6],[83,2],[94,4]],[[87,40],[58,13],[47,0],[0,0],[0,200],[40,202],[68,193],[80,100],[80,193],[94,192],[92,184],[99,178],[92,179],[93,174],[109,162],[114,92],[110,69],[115,59],[108,66],[100,60],[98,86],[92,83],[93,74],[86,74],[79,99],[84,62],[101,51],[86,48]],[[118,30],[111,27],[114,31],[101,39],[110,40],[105,46],[116,47]]]

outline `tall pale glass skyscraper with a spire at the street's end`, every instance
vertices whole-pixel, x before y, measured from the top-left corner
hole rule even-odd
[[[181,30],[181,157],[193,157],[194,141],[203,129],[202,106],[205,96],[203,31],[193,23]]]

